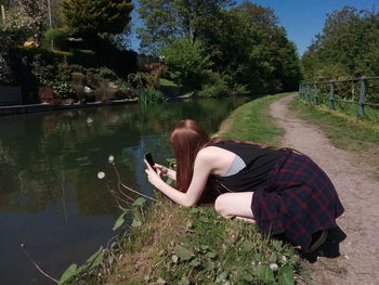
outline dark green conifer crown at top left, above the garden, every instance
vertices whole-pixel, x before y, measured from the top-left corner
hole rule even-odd
[[[120,34],[129,22],[130,0],[63,0],[62,13],[73,35],[86,39],[99,34]]]

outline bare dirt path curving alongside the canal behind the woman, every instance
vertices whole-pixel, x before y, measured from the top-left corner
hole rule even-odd
[[[335,183],[345,212],[337,222],[347,234],[338,258],[318,257],[311,263],[313,284],[379,284],[379,182],[374,168],[356,155],[331,145],[313,125],[288,112],[295,95],[271,105],[271,114],[286,130],[285,146],[313,158]],[[379,158],[378,158],[379,159]]]

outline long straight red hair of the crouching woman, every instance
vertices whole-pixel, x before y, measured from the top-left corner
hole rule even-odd
[[[177,124],[170,135],[177,158],[177,189],[186,192],[194,173],[197,153],[209,142],[208,133],[192,119]]]

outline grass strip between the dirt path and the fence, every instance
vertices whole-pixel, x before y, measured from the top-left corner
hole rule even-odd
[[[379,169],[379,124],[358,119],[325,105],[312,105],[299,99],[292,100],[289,108],[297,116],[317,125],[338,148],[362,156]]]

